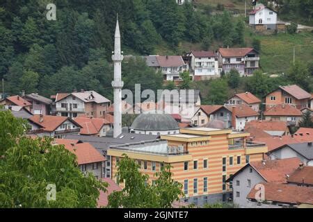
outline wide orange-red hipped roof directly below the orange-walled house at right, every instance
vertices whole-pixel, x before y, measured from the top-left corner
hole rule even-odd
[[[302,116],[302,112],[293,105],[278,104],[266,110],[264,116],[300,117]]]

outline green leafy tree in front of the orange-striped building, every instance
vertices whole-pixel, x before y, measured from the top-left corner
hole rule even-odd
[[[155,185],[147,183],[149,176],[139,171],[139,165],[127,155],[117,164],[116,178],[125,186],[122,191],[114,191],[109,195],[108,207],[147,208],[171,207],[175,200],[184,196],[182,185],[171,178],[170,166],[162,167],[156,173]]]

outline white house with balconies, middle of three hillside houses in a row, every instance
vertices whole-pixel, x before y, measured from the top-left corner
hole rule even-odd
[[[220,76],[218,56],[213,51],[192,51],[189,56],[195,80]]]

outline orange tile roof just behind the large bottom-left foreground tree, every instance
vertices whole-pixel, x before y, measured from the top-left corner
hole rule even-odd
[[[104,162],[106,158],[97,151],[95,147],[88,143],[78,143],[75,139],[55,139],[59,145],[64,145],[65,148],[77,155],[77,162],[81,164],[90,164],[93,162]]]

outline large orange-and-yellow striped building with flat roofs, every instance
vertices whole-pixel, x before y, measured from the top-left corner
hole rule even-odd
[[[226,185],[236,171],[250,161],[262,160],[265,144],[248,142],[248,133],[217,128],[184,128],[177,135],[161,135],[150,142],[110,146],[112,178],[116,163],[125,153],[138,161],[141,172],[156,180],[154,173],[170,164],[172,179],[183,185],[186,203],[203,205],[227,201],[231,186]]]

